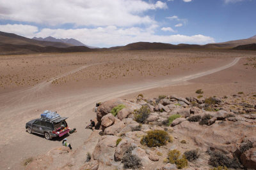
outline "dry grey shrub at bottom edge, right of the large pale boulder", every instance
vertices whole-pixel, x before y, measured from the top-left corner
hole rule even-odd
[[[134,146],[129,146],[124,154],[121,162],[124,164],[125,169],[139,169],[142,166],[141,159],[136,155],[132,155],[134,148]]]

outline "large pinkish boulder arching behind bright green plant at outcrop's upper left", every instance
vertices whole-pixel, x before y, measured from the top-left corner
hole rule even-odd
[[[124,104],[125,108],[129,108],[130,110],[138,110],[141,107],[140,104],[132,103],[131,101],[123,99],[111,99],[100,104],[100,106],[97,108],[97,120],[100,122],[102,117],[110,113],[110,111],[119,104]]]

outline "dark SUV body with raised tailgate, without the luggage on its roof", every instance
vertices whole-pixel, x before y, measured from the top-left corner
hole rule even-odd
[[[67,117],[54,119],[36,118],[26,123],[26,129],[29,134],[35,132],[44,135],[45,139],[50,140],[57,136],[61,137],[70,131],[65,121],[66,119]]]

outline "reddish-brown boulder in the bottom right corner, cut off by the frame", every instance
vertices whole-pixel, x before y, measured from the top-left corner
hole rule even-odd
[[[241,155],[241,162],[244,167],[256,168],[256,148],[251,148]]]

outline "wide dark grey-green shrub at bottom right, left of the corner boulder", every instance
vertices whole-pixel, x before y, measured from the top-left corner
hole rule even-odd
[[[216,151],[210,153],[210,159],[208,164],[213,167],[223,166],[223,167],[230,167],[230,168],[239,168],[241,167],[241,164],[239,161],[234,157],[234,159],[230,159],[227,157],[227,155],[224,155],[223,153]]]

